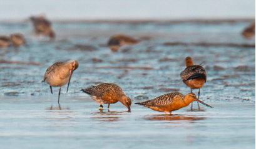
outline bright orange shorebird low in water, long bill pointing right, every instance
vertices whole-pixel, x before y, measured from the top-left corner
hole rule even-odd
[[[187,107],[191,102],[198,101],[207,107],[212,106],[197,99],[197,96],[193,93],[183,95],[179,92],[172,92],[164,95],[160,95],[155,99],[146,100],[145,102],[136,102],[135,104],[143,105],[144,107],[151,108],[152,110],[165,112],[165,114],[172,114],[172,111],[178,110],[183,107]]]

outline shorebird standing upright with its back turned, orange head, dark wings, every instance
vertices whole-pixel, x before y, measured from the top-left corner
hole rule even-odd
[[[202,67],[202,64],[194,65],[192,58],[189,56],[186,57],[185,62],[186,62],[186,69],[180,73],[180,77],[182,77],[182,81],[184,82],[184,84],[190,87],[191,92],[192,92],[192,89],[199,89],[199,92],[198,92],[198,99],[199,99],[200,88],[203,87],[203,84],[205,84],[207,80],[206,71]],[[192,103],[192,107],[193,107],[193,103]],[[198,103],[198,107],[199,107],[199,103]]]

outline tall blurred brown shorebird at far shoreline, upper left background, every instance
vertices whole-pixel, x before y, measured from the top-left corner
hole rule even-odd
[[[34,32],[39,36],[49,36],[51,39],[55,38],[55,33],[51,28],[51,22],[48,21],[44,16],[30,17],[33,22]]]

